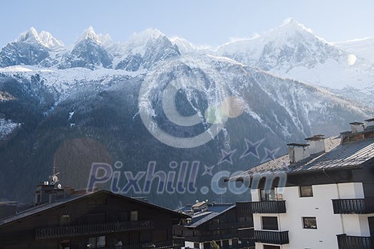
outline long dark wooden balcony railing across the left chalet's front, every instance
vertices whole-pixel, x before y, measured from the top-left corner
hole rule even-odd
[[[155,228],[154,221],[125,221],[115,223],[96,223],[78,226],[58,226],[51,228],[36,228],[37,240],[47,238],[65,238],[80,235],[100,233],[118,233]]]

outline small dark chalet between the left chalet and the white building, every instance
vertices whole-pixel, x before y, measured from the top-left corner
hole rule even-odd
[[[196,201],[179,210],[191,218],[173,226],[173,235],[185,238],[185,248],[254,248],[251,213],[240,213],[235,203]]]

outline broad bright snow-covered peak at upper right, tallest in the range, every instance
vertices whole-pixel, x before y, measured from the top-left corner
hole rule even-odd
[[[217,54],[313,85],[374,88],[372,63],[324,41],[294,19],[256,38],[227,43]]]

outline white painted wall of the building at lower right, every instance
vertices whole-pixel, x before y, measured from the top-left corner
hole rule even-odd
[[[251,194],[252,201],[259,201],[258,189],[252,189]],[[364,198],[361,183],[314,185],[313,197],[299,197],[298,186],[286,187],[282,194],[286,200],[286,213],[254,214],[255,230],[262,230],[261,216],[276,216],[279,231],[289,231],[290,243],[283,245],[282,249],[338,249],[338,234],[370,235],[368,216],[333,213],[332,199]],[[302,217],[316,217],[317,229],[303,228]],[[262,249],[263,245],[256,243],[258,248]]]

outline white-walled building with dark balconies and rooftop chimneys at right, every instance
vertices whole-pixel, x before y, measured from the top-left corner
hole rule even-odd
[[[374,248],[374,119],[232,176],[251,188],[256,249]]]

